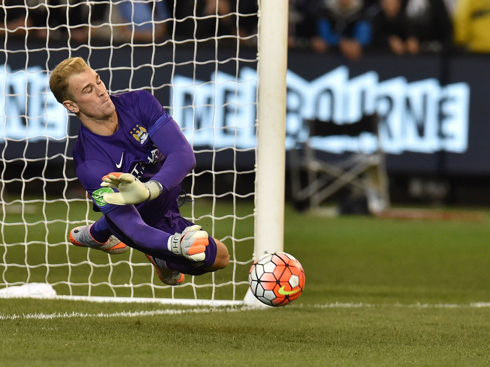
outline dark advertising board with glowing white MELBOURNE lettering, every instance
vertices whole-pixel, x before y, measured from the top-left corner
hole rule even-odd
[[[24,45],[22,45],[24,46]],[[36,57],[16,52],[0,71],[0,143],[13,159],[71,155],[79,121],[49,92],[49,69],[66,50],[38,49]],[[256,119],[256,63],[253,50],[129,47],[72,52],[88,58],[111,92],[149,90],[166,107],[197,151],[201,166],[233,164],[253,168]],[[75,55],[76,53],[76,55]],[[132,57],[132,60],[131,60]],[[196,58],[196,63],[179,62]],[[108,64],[108,60],[112,60]],[[151,60],[158,60],[151,67]],[[154,63],[157,64],[157,63]],[[27,68],[26,68],[27,65]],[[130,65],[141,67],[131,69]],[[306,120],[352,124],[377,113],[379,133],[315,137],[312,145],[327,154],[371,152],[381,147],[392,172],[490,175],[488,136],[490,57],[367,54],[359,62],[340,55],[291,52],[287,74],[286,149],[308,138]],[[48,146],[48,149],[47,149]],[[221,149],[221,150],[220,150]]]

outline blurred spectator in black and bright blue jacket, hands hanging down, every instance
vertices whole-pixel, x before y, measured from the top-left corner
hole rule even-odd
[[[350,60],[358,60],[371,42],[371,24],[364,17],[362,0],[320,0],[318,37],[312,40],[317,52],[338,47]]]

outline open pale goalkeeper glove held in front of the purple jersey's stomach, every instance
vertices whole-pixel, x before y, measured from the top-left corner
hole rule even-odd
[[[155,199],[162,193],[162,185],[154,180],[142,183],[130,173],[111,172],[102,177],[103,187],[113,187],[119,192],[102,194],[104,201],[109,204],[129,205]]]

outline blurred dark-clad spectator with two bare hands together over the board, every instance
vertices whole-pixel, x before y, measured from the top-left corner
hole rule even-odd
[[[419,52],[420,43],[414,36],[405,13],[402,12],[401,0],[380,0],[369,10],[374,13],[373,48],[389,49],[397,55]]]

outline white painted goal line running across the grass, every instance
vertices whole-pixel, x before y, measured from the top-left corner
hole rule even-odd
[[[313,306],[310,305],[291,305],[288,308],[370,308],[370,307],[400,307],[400,308],[490,308],[490,302],[474,302],[469,304],[452,304],[452,303],[412,303],[412,304],[370,304],[370,303],[352,303],[352,302],[332,302],[326,304],[315,304]],[[53,320],[53,319],[67,319],[67,318],[112,318],[112,317],[144,317],[144,316],[159,316],[159,315],[182,315],[182,314],[200,314],[200,313],[215,313],[215,312],[238,312],[244,310],[256,310],[263,308],[256,307],[220,307],[220,308],[193,308],[186,310],[178,310],[178,309],[165,309],[165,310],[151,310],[151,311],[122,311],[122,312],[113,312],[113,313],[82,313],[82,312],[65,312],[59,313],[55,312],[52,314],[43,314],[43,313],[35,313],[35,314],[22,314],[22,315],[3,315],[0,314],[0,320]],[[274,309],[274,307],[267,307],[267,309]],[[276,308],[279,309],[279,308]]]

